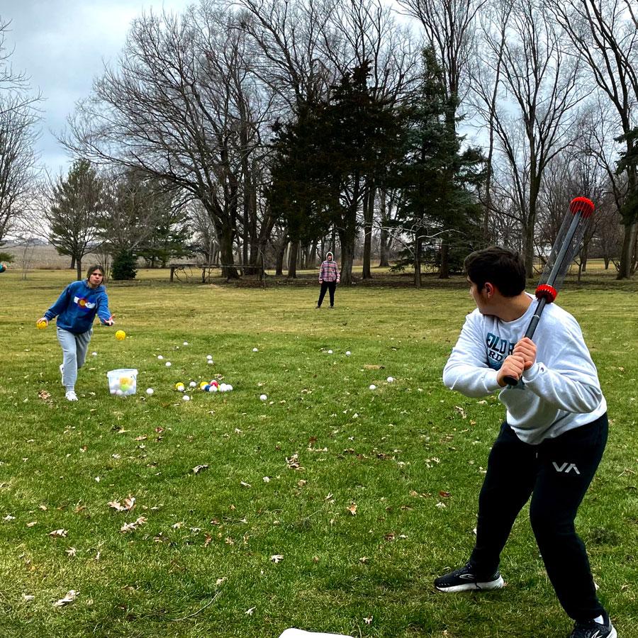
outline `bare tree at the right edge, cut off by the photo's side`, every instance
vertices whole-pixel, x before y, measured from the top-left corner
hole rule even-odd
[[[634,136],[638,108],[638,28],[629,0],[546,0],[553,16],[569,36],[578,57],[588,65],[595,86],[615,107],[626,153],[636,150]],[[633,133],[633,135],[632,135]],[[623,202],[625,237],[619,279],[632,274],[638,235],[638,174],[628,162],[627,199]]]

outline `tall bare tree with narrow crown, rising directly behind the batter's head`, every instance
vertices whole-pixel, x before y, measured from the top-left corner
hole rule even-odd
[[[502,94],[495,103],[494,89],[482,86],[480,98],[507,167],[500,189],[515,205],[525,268],[532,276],[542,177],[552,158],[573,142],[568,133],[583,91],[578,89],[578,61],[561,50],[561,33],[544,19],[536,0],[516,0],[511,11],[498,15],[500,23],[486,38],[481,64],[496,58],[493,81],[500,82]]]

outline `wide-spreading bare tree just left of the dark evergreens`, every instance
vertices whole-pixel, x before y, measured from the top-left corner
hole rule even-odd
[[[234,23],[220,4],[206,1],[181,17],[135,20],[118,68],[95,82],[63,140],[79,155],[140,169],[200,201],[215,225],[227,277],[238,276],[241,155],[253,143],[240,141],[250,122],[245,103],[237,103],[245,36]]]

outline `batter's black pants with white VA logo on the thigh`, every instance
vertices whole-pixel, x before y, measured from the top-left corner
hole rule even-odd
[[[512,525],[531,495],[532,530],[564,610],[581,621],[603,613],[573,521],[603,456],[607,433],[605,414],[555,439],[530,445],[503,423],[478,498],[476,547],[471,555],[477,573],[496,571]]]

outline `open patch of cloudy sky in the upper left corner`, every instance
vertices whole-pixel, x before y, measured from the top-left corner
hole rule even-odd
[[[191,0],[0,0],[0,18],[11,20],[7,44],[15,71],[30,76],[43,102],[38,152],[54,174],[70,158],[55,135],[77,100],[89,95],[103,63],[116,60],[131,21],[142,11],[184,9]]]

